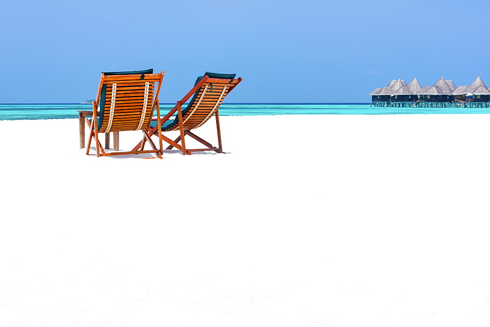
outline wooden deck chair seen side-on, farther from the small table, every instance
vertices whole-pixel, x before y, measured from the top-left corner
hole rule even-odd
[[[206,72],[204,76],[197,77],[194,88],[180,101],[177,101],[177,105],[173,107],[165,117],[160,119],[160,121],[158,121],[158,118],[152,119],[148,129],[148,135],[159,136],[160,141],[165,140],[170,144],[170,146],[167,147],[167,150],[175,147],[181,150],[184,155],[192,154],[192,152],[195,151],[216,151],[217,153],[222,153],[223,149],[221,145],[218,109],[224,97],[242,81],[241,77],[235,79],[235,76],[236,74]],[[182,109],[182,105],[189,99],[191,99],[189,104]],[[175,112],[177,112],[177,117],[173,120],[170,119]],[[213,115],[216,119],[218,147],[213,146],[211,143],[191,132],[192,129],[202,126]],[[160,116],[157,115],[157,117]],[[169,131],[180,131],[180,136],[176,140],[171,140],[162,134],[162,132]],[[184,140],[186,135],[197,140],[206,147],[201,149],[187,149]],[[179,141],[181,144],[178,144]],[[141,147],[145,142],[146,139],[142,140],[133,148],[133,150]]]

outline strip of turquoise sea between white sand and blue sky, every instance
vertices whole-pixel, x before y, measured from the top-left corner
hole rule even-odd
[[[162,113],[175,104],[160,104]],[[490,108],[374,108],[370,103],[227,103],[220,116],[490,114]],[[0,120],[77,118],[91,104],[0,104]]]

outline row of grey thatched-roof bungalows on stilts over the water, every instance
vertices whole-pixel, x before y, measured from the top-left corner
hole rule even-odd
[[[444,77],[426,87],[417,78],[408,85],[402,79],[394,79],[369,95],[374,107],[490,107],[490,89],[480,77],[469,86],[458,87]]]

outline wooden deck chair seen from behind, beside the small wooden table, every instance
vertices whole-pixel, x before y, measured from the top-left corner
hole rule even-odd
[[[87,144],[89,154],[90,142],[95,140],[97,157],[138,153],[154,153],[162,158],[163,146],[160,140],[159,149],[150,139],[147,129],[156,107],[160,116],[158,93],[163,80],[162,71],[154,74],[153,70],[103,72],[98,86],[96,101],[93,103],[94,114],[86,118],[90,127]],[[100,111],[98,112],[98,105]],[[143,132],[143,140],[151,144],[152,150],[139,149],[126,152],[105,152],[98,141],[98,133],[137,131]]]

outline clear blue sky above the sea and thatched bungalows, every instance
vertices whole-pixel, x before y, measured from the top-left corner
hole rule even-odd
[[[227,102],[368,102],[392,79],[490,86],[490,1],[3,1],[0,103],[82,102],[101,71],[164,70],[175,102],[205,71]]]

